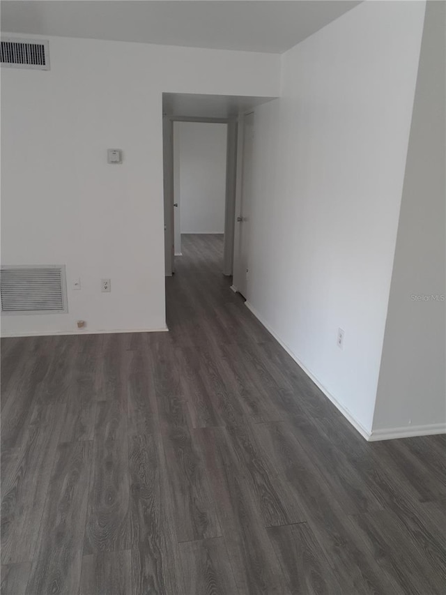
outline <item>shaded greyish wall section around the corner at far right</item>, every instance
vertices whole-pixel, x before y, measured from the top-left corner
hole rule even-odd
[[[445,56],[445,3],[428,2],[376,398],[377,437],[446,431],[446,302],[430,300],[446,294]]]

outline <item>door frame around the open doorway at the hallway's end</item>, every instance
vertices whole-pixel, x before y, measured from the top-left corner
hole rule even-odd
[[[164,173],[164,267],[165,276],[174,272],[174,122],[204,122],[227,124],[226,127],[226,193],[224,206],[223,270],[233,273],[234,227],[236,223],[236,185],[238,165],[238,118],[199,118],[192,116],[162,116]]]

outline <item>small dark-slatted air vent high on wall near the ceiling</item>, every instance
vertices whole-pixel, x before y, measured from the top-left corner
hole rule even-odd
[[[49,70],[49,44],[40,39],[1,39],[1,66]]]

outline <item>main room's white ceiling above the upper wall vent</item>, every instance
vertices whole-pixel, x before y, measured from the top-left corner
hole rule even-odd
[[[280,54],[353,0],[3,0],[1,30]]]

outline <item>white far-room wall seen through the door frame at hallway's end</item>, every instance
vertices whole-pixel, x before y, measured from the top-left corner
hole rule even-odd
[[[226,135],[224,123],[174,122],[179,170],[175,215],[183,234],[224,233]]]

